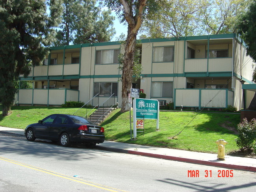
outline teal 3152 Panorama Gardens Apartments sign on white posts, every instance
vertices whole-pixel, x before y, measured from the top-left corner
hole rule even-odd
[[[156,119],[156,130],[159,131],[159,104],[158,100],[134,99],[134,138],[137,137],[136,119],[137,116],[144,116],[144,119]]]

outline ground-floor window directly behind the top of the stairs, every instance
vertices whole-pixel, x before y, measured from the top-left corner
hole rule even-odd
[[[110,97],[113,93],[117,96],[117,83],[94,83],[94,96],[99,94],[102,97]]]

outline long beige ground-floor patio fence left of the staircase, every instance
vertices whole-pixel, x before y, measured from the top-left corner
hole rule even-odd
[[[23,105],[62,105],[79,101],[79,91],[70,89],[19,89],[16,103]]]

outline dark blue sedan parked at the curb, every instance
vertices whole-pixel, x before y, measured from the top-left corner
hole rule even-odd
[[[81,116],[69,114],[51,114],[38,123],[30,124],[25,129],[25,135],[29,141],[36,138],[49,139],[59,141],[64,147],[69,146],[70,142],[93,147],[105,140],[103,127]]]

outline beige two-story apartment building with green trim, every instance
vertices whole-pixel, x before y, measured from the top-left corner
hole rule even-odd
[[[174,107],[244,108],[241,80],[252,84],[252,59],[245,43],[235,34],[143,39],[141,78],[133,87],[147,98]],[[89,101],[96,94],[103,102],[115,94],[121,106],[120,42],[51,47],[44,65],[31,69],[33,89],[19,89],[19,105],[61,105]],[[246,90],[246,105],[254,91]]]

